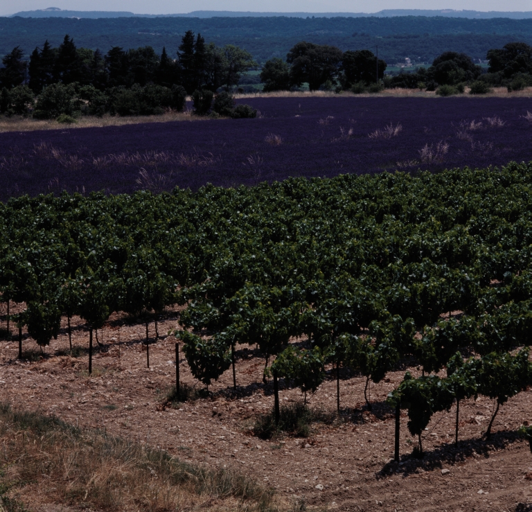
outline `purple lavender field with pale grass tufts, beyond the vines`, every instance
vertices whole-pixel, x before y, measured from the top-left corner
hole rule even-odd
[[[0,134],[0,200],[532,160],[530,98],[253,98],[256,119]]]

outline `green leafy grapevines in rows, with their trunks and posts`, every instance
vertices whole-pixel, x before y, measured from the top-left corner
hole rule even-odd
[[[256,346],[275,423],[280,386],[300,387],[306,403],[332,370],[341,413],[350,369],[371,410],[371,383],[407,361],[423,375],[407,372],[387,400],[396,460],[401,409],[418,457],[437,412],[454,409],[459,443],[471,397],[495,400],[489,439],[500,407],[532,384],[531,186],[532,166],[509,164],[14,198],[0,205],[4,335],[18,330],[22,357],[23,329],[45,347],[78,315],[91,373],[98,329],[125,312],[145,324],[149,367],[148,324],[157,331],[165,308],[186,306],[173,334],[193,376],[208,388],[232,371],[237,389],[236,347]],[[522,434],[531,441],[530,427]]]

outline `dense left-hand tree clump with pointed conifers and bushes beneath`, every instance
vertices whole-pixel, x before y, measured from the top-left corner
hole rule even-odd
[[[251,55],[238,46],[206,44],[202,35],[190,30],[182,37],[175,58],[166,48],[157,55],[151,46],[127,51],[114,46],[103,55],[99,50],[77,48],[65,35],[57,48],[48,41],[35,48],[29,62],[17,46],[2,63],[0,112],[31,112],[35,118],[179,112],[186,96],[195,91],[203,98],[195,102],[195,110],[203,114],[211,110],[211,105],[204,105],[207,91],[229,91],[244,71],[256,66]],[[210,98],[212,102],[213,95]]]

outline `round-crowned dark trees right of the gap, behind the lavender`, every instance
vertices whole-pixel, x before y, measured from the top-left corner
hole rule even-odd
[[[440,92],[445,94],[444,91],[463,92],[465,85],[470,85],[472,94],[482,94],[493,85],[506,85],[509,91],[532,85],[532,47],[528,44],[508,43],[488,51],[486,58],[487,73],[465,53],[447,51],[427,69],[384,76],[387,63],[372,51],[342,52],[334,46],[300,42],[285,61],[279,58],[267,61],[260,78],[265,91],[301,87],[303,82],[308,83],[311,91],[325,88],[355,93],[395,87],[434,91],[443,86]]]

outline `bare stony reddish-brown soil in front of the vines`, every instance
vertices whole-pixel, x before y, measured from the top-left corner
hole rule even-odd
[[[5,315],[5,304],[0,305]],[[14,311],[13,311],[14,312]],[[68,355],[66,321],[43,356],[24,334],[29,359],[17,360],[18,343],[0,342],[0,401],[13,407],[55,414],[69,423],[104,428],[140,443],[164,448],[186,461],[209,467],[235,467],[276,489],[285,500],[331,511],[531,511],[532,454],[515,431],[532,422],[530,391],[501,407],[490,442],[482,441],[493,403],[484,397],[461,403],[460,444],[454,448],[454,414],[436,414],[423,436],[425,457],[411,456],[416,440],[402,414],[401,462],[393,459],[393,413],[384,400],[405,373],[390,373],[371,385],[373,412],[364,404],[364,378],[342,375],[342,414],[330,424],[314,423],[308,439],[284,436],[263,440],[251,426],[273,405],[271,385],[263,385],[264,360],[252,347],[238,346],[236,378],[224,373],[209,398],[179,409],[161,407],[175,384],[178,312],[159,322],[161,339],[150,324],[150,369],[143,344],[145,326],[114,315],[99,333],[104,348],[87,373],[87,354]],[[2,327],[5,327],[5,320]],[[73,345],[86,348],[88,331],[73,319]],[[15,333],[14,333],[15,334]],[[95,343],[96,344],[96,343]],[[186,362],[181,382],[197,384]],[[419,373],[410,369],[414,375]],[[282,403],[302,400],[299,389],[281,390]],[[336,408],[335,373],[310,396],[310,407]],[[449,473],[442,470],[450,470]],[[323,486],[323,488],[321,488]],[[285,501],[283,500],[283,501]]]

